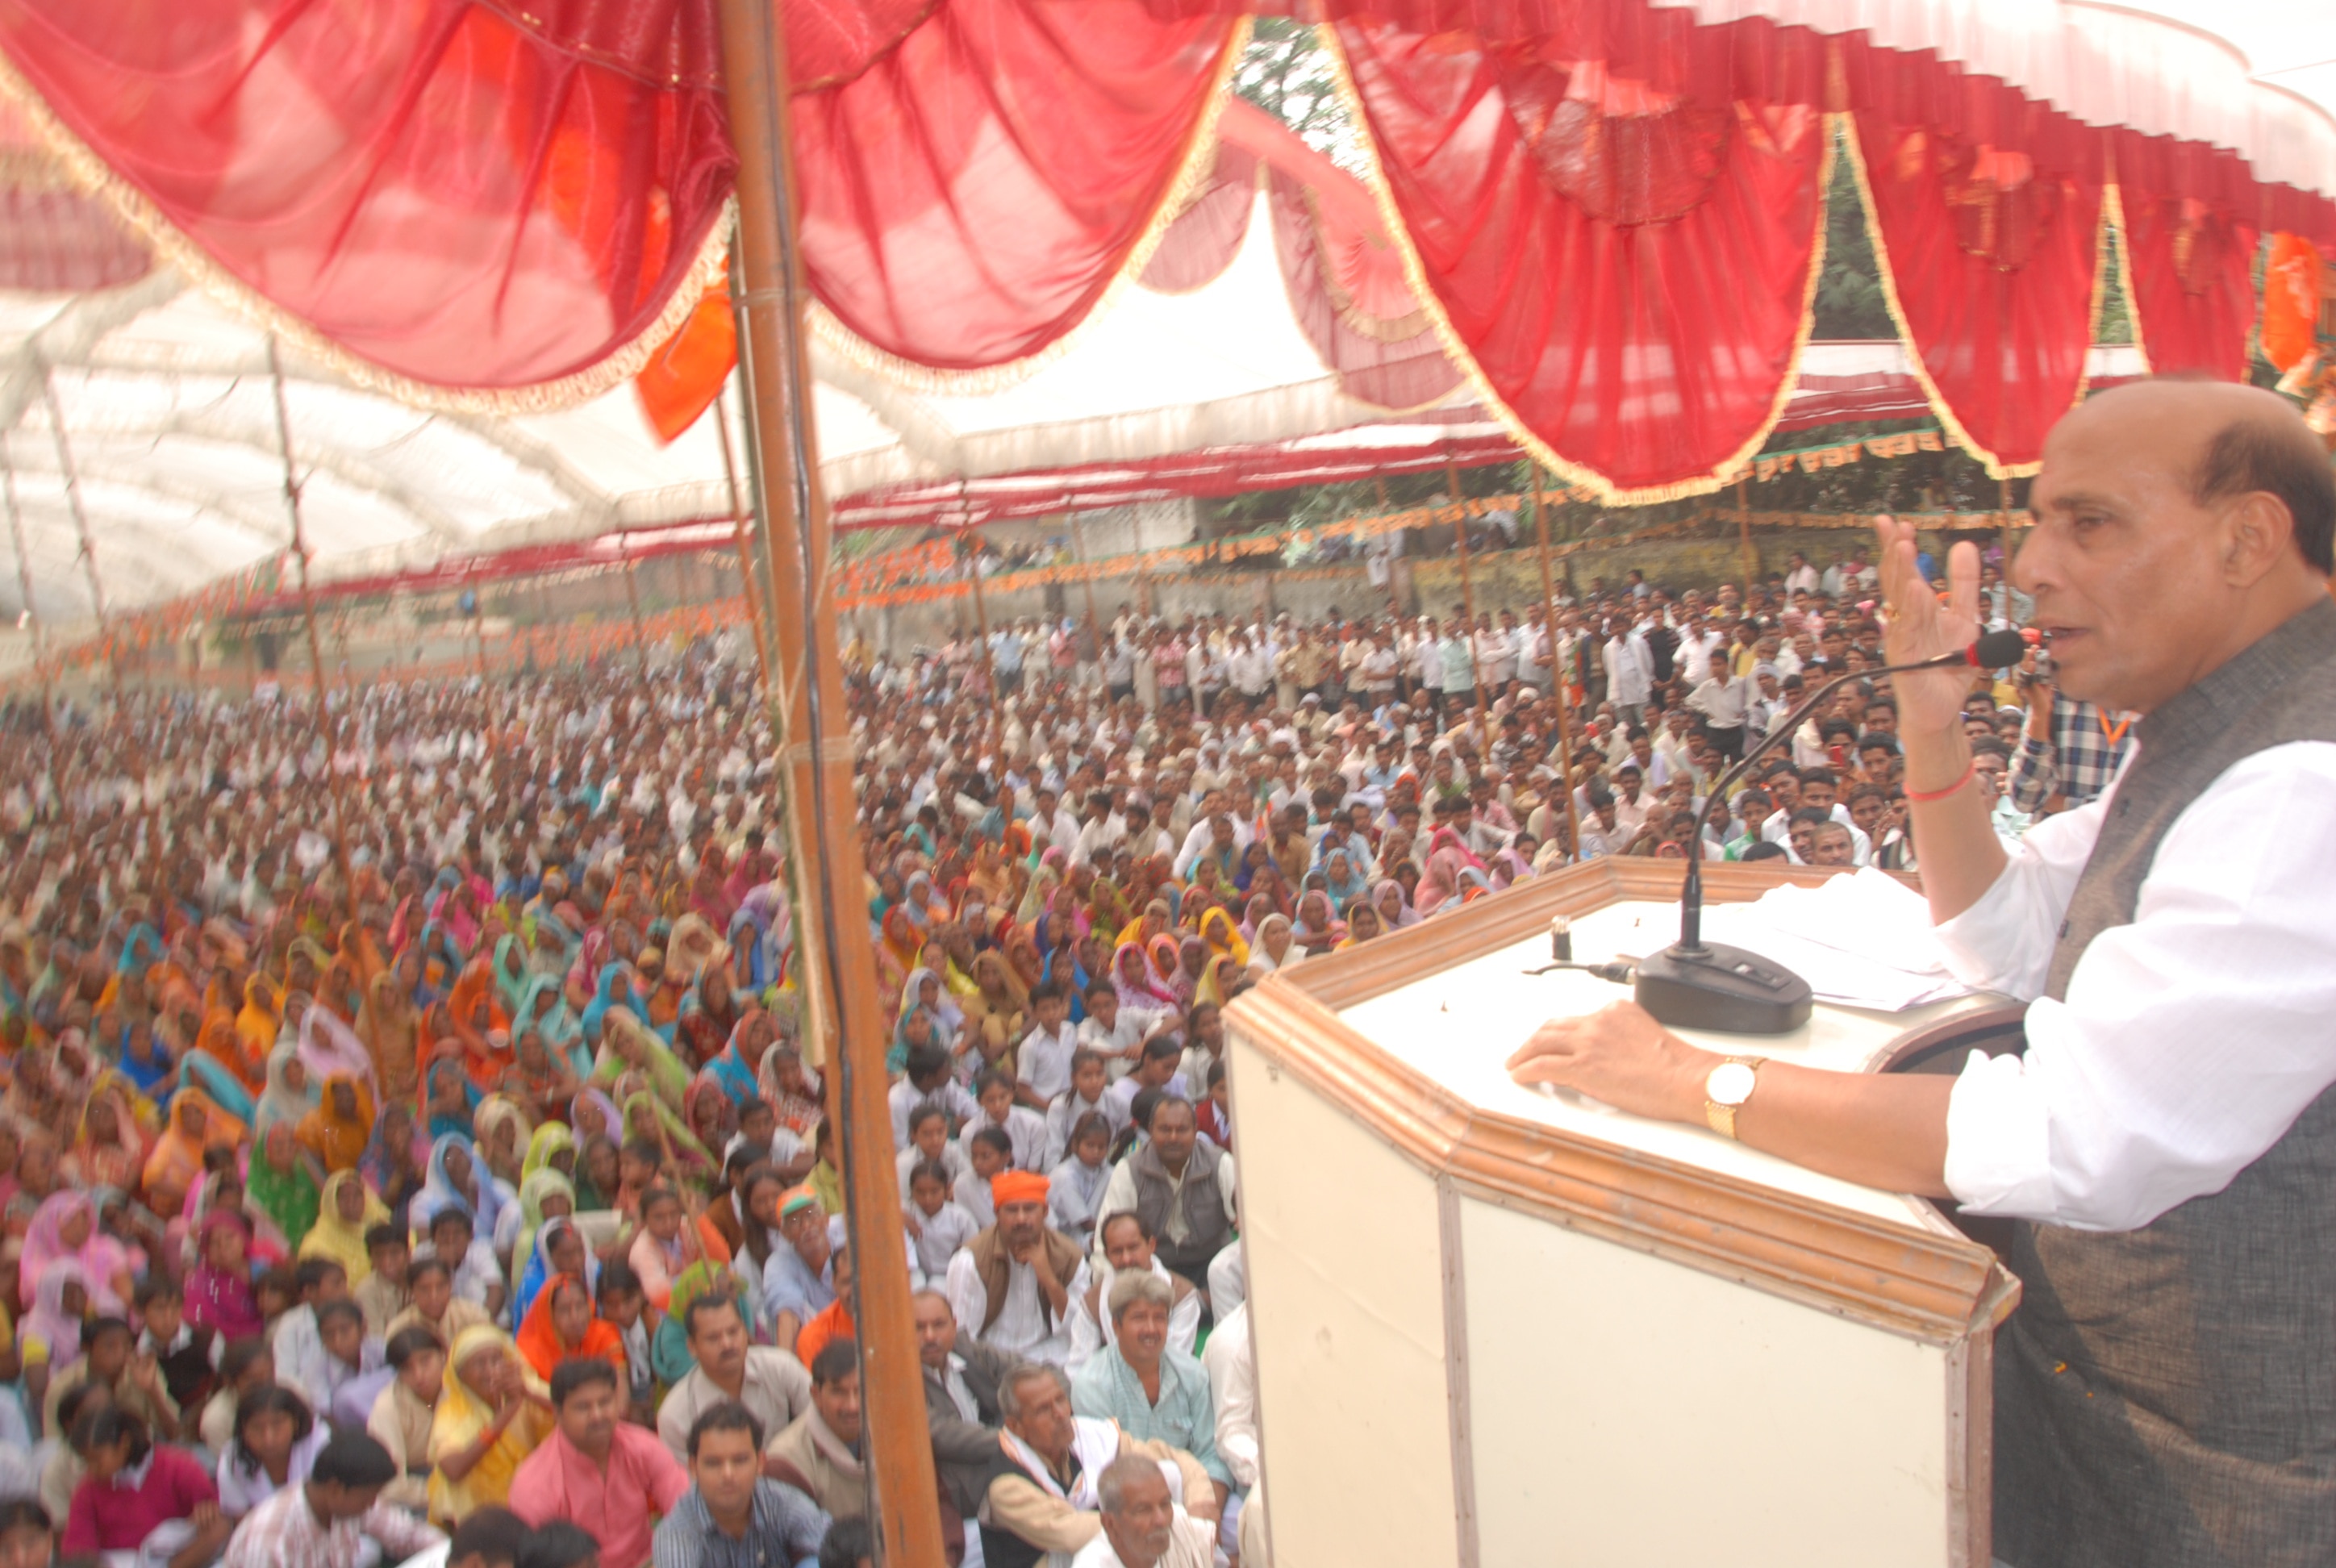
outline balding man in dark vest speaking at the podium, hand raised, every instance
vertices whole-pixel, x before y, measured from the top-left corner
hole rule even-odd
[[[2151,381],[2044,446],[2014,582],[2060,689],[2135,757],[2004,853],[1965,675],[1897,675],[1923,890],[1955,972],[2030,1000],[1960,1077],[1766,1063],[1736,1136],[2009,1215],[1995,1554],[2011,1568],[2336,1563],[2336,479],[2271,393]],[[1976,636],[1880,523],[1887,650]],[[1518,1082],[1705,1119],[1719,1059],[1631,1002],[1544,1024]]]

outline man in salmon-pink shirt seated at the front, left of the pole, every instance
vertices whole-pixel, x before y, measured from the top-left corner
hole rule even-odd
[[[656,1432],[617,1418],[617,1367],[598,1355],[551,1369],[551,1409],[558,1428],[512,1477],[512,1512],[533,1526],[570,1519],[600,1542],[600,1568],[640,1568],[689,1475]]]

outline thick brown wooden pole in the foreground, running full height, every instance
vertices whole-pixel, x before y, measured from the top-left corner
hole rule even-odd
[[[885,1103],[885,1035],[876,1005],[876,956],[867,925],[850,715],[836,657],[829,521],[820,493],[811,411],[811,348],[804,332],[801,257],[794,250],[794,152],[785,91],[780,9],[719,0],[722,77],[731,145],[738,150],[738,351],[755,430],[755,491],[771,561],[773,598],[797,615],[771,617],[773,671],[783,694],[787,818],[797,855],[797,951],[806,993],[827,998],[836,1052],[839,1154],[853,1239],[853,1323],[860,1327],[881,1561],[941,1568],[939,1491],[925,1425],[925,1379],[909,1311],[906,1239],[892,1171]]]

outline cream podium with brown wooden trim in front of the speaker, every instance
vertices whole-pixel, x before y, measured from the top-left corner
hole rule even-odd
[[[1226,1012],[1273,1561],[1986,1568],[2018,1283],[1927,1201],[1509,1082],[1549,963],[1677,939],[1682,862],[1595,860],[1306,960]],[[1705,897],[1822,872],[1708,867]],[[2018,1010],[1820,1005],[1698,1045],[1958,1070]]]

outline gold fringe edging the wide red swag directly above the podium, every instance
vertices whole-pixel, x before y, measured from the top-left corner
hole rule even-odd
[[[1817,280],[1824,276],[1822,192],[1824,185],[1831,182],[1831,168],[1834,168],[1831,143],[1827,143],[1817,157],[1820,201],[1815,217],[1815,236],[1808,252],[1808,280],[1803,283],[1801,290],[1801,327],[1794,332],[1792,358],[1785,365],[1785,376],[1778,381],[1775,397],[1768,404],[1768,416],[1759,423],[1759,430],[1754,430],[1750,439],[1745,439],[1731,456],[1726,456],[1722,463],[1705,470],[1703,474],[1696,474],[1691,479],[1677,479],[1670,484],[1621,486],[1600,474],[1598,470],[1574,463],[1560,456],[1553,446],[1549,446],[1549,442],[1544,442],[1539,432],[1535,432],[1532,425],[1528,425],[1516,414],[1516,409],[1509,407],[1509,402],[1493,386],[1490,376],[1483,374],[1483,367],[1469,351],[1467,339],[1462,339],[1460,332],[1453,327],[1451,313],[1446,313],[1444,301],[1430,285],[1427,266],[1420,262],[1420,252],[1411,243],[1411,231],[1404,227],[1402,208],[1395,203],[1395,189],[1388,185],[1388,171],[1378,161],[1378,143],[1369,133],[1371,117],[1362,105],[1362,91],[1355,86],[1353,65],[1346,58],[1346,44],[1339,37],[1339,28],[1334,23],[1318,23],[1315,37],[1322,42],[1322,54],[1329,61],[1329,75],[1332,82],[1336,84],[1339,98],[1346,103],[1346,112],[1355,119],[1355,126],[1362,129],[1364,133],[1362,136],[1364,185],[1371,189],[1371,199],[1378,203],[1378,222],[1388,229],[1388,238],[1395,243],[1397,255],[1404,257],[1404,278],[1411,283],[1411,292],[1420,301],[1420,311],[1425,311],[1427,320],[1434,325],[1437,339],[1444,344],[1444,353],[1451,355],[1451,362],[1460,369],[1462,379],[1476,393],[1476,400],[1509,432],[1509,439],[1523,446],[1525,456],[1539,463],[1542,467],[1551,470],[1560,479],[1567,479],[1577,486],[1593,491],[1605,500],[1605,505],[1614,507],[1652,507],[1666,500],[1710,495],[1712,491],[1733,484],[1743,474],[1750,458],[1761,446],[1768,444],[1771,435],[1775,435],[1775,423],[1785,416],[1785,404],[1792,402],[1792,393],[1801,379],[1801,355],[1808,351],[1808,332],[1815,322],[1813,306],[1817,299]]]

